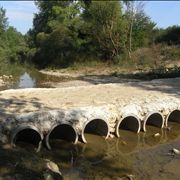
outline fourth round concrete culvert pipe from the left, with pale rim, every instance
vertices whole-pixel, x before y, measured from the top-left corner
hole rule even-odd
[[[127,115],[121,118],[116,125],[117,137],[120,137],[120,129],[130,130],[139,133],[141,129],[141,122],[135,115]]]

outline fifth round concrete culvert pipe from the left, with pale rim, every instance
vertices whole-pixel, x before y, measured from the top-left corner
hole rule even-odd
[[[156,126],[159,128],[164,127],[164,118],[163,115],[159,112],[149,113],[143,121],[143,131],[146,131],[146,125]]]

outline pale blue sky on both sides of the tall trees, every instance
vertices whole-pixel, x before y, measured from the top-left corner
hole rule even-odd
[[[22,34],[32,28],[34,13],[38,12],[33,1],[0,1],[0,7],[6,9],[9,25]],[[146,1],[144,10],[159,28],[180,25],[180,1]]]

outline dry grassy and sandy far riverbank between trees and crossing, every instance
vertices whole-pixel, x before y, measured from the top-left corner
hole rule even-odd
[[[158,79],[176,78],[180,76],[180,64],[169,63],[166,66],[160,66],[156,69],[138,68],[131,69],[119,66],[107,66],[102,64],[95,68],[84,67],[78,69],[60,69],[60,70],[40,70],[40,73],[57,78],[66,77],[69,81],[66,82],[44,82],[44,86],[50,87],[71,87],[71,86],[86,86],[90,84],[106,84],[106,83],[130,83],[140,81],[151,81]]]

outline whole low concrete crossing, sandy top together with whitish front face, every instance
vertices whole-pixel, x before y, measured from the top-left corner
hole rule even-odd
[[[176,80],[180,84],[179,79]],[[180,110],[180,94],[177,83],[177,92],[171,87],[172,81],[169,84],[171,89],[168,86],[170,90],[164,91],[159,89],[162,81],[158,83],[151,81],[151,84],[144,82],[1,91],[1,141],[13,141],[12,137],[16,136],[13,132],[19,126],[22,129],[33,127],[40,137],[49,137],[57,126],[69,125],[75,132],[74,143],[77,143],[77,136],[87,142],[84,132],[92,124],[97,127],[100,124],[101,128],[96,128],[96,131],[105,138],[114,133],[120,136],[119,128],[122,126],[136,132],[141,128],[145,131],[146,121],[154,115],[162,117],[161,124],[159,120],[152,124],[163,127],[165,121],[167,126],[167,117],[171,112]],[[104,129],[104,132],[100,132],[100,129]],[[49,138],[46,142],[50,148]]]

